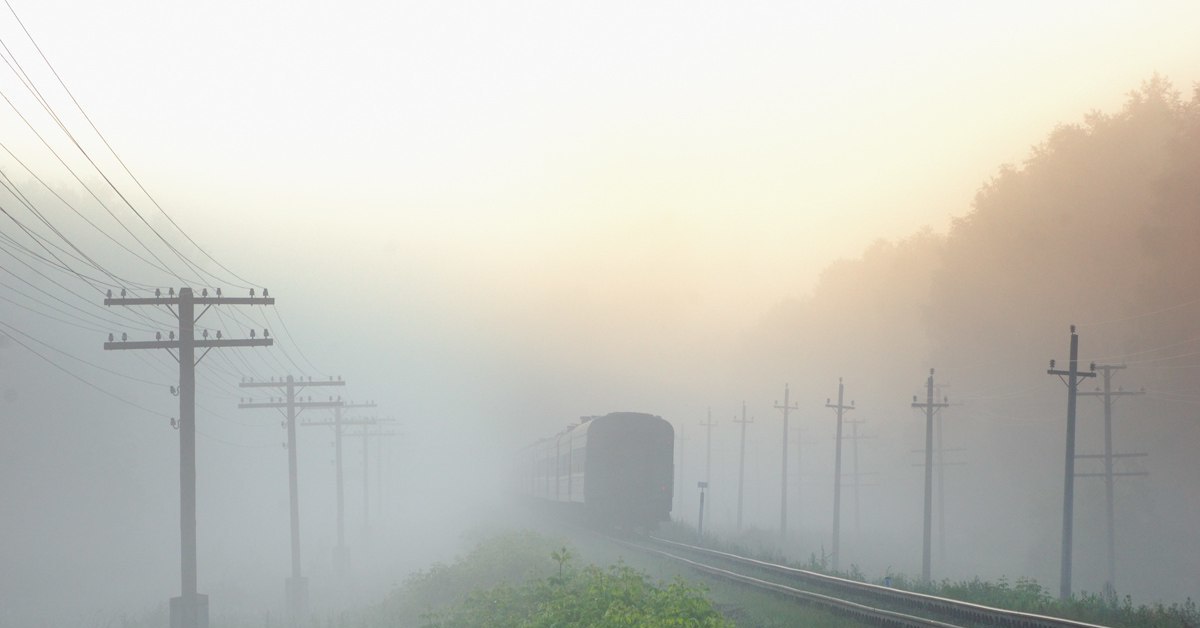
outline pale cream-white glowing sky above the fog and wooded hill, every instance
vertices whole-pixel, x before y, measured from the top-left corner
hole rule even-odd
[[[1190,1],[16,2],[256,281],[286,243],[364,286],[386,252],[433,292],[666,288],[736,325],[877,237],[943,229],[1151,73],[1188,90],[1200,23]]]

